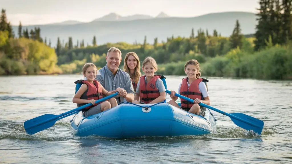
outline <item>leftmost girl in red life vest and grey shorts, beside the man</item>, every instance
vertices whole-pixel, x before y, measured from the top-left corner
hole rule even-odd
[[[85,104],[91,103],[92,106],[82,109],[85,117],[91,116],[93,114],[98,114],[102,111],[106,111],[112,107],[116,107],[117,100],[112,97],[107,101],[95,104],[95,101],[102,98],[102,94],[108,96],[119,92],[119,95],[123,93],[123,89],[117,88],[117,90],[108,92],[103,88],[99,81],[95,80],[97,74],[97,68],[93,63],[86,63],[83,66],[83,75],[86,80],[78,80],[75,83],[83,83],[77,93],[74,95],[72,102],[77,103],[77,106],[83,106]]]

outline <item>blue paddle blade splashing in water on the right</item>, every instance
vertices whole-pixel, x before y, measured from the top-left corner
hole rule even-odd
[[[248,116],[243,113],[231,113],[233,116],[239,117],[245,121],[250,122],[253,125],[249,125],[248,123],[244,123],[240,120],[237,120],[235,118],[231,118],[233,123],[241,128],[244,128],[246,130],[253,130],[254,132],[258,133],[259,135],[262,133],[262,130],[264,128],[264,122],[262,120],[259,120],[258,118],[254,118],[252,116]]]

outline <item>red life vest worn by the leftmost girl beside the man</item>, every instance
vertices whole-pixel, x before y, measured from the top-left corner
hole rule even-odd
[[[90,83],[89,81],[87,80],[77,80],[75,81],[75,84],[77,83],[82,83],[82,84],[86,84],[87,85],[87,90],[81,95],[80,99],[84,99],[84,100],[91,100],[91,99],[94,99],[94,100],[99,100],[102,98],[102,89],[101,89],[101,85],[99,83],[99,81],[97,80],[93,80],[93,84]],[[102,103],[102,102],[100,102]],[[100,103],[97,103],[97,104],[94,104],[94,105],[91,105],[89,107],[86,107],[84,109],[82,109],[82,111],[88,111],[91,107],[94,107]],[[86,105],[86,104],[77,104],[78,107],[81,107],[83,105]]]

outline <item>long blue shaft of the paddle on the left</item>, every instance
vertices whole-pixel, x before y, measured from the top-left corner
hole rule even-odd
[[[101,98],[101,99],[99,99],[99,100],[96,100],[96,101],[95,101],[95,104],[96,104],[96,103],[99,103],[99,102],[102,102],[102,101],[105,101],[105,100],[107,100],[107,99],[110,99],[110,98],[112,98],[112,97],[115,97],[115,96],[117,96],[118,94],[119,94],[119,93],[116,92],[116,93],[114,93],[114,94],[112,94],[112,95],[109,95],[109,96],[107,96],[107,97],[103,97],[103,98]],[[37,124],[34,124],[34,125],[32,125],[32,126],[29,126],[29,127],[27,127],[27,129],[32,128],[32,127],[35,127],[35,126],[39,126],[39,125],[41,125],[41,124],[43,124],[43,123],[47,123],[47,122],[49,122],[49,121],[53,121],[53,120],[55,120],[55,119],[58,119],[59,117],[65,118],[65,117],[70,116],[70,115],[72,115],[72,114],[78,113],[77,111],[80,111],[80,110],[82,110],[82,109],[84,109],[84,108],[86,108],[86,107],[90,107],[91,105],[92,105],[91,103],[88,103],[88,104],[83,105],[83,106],[81,106],[81,107],[78,107],[78,108],[72,109],[72,110],[67,111],[67,112],[65,112],[65,113],[59,114],[58,116],[55,116],[55,117],[49,118],[49,119],[47,119],[47,120],[44,120],[44,121],[41,121],[41,122],[39,122],[39,123],[37,123]],[[74,112],[74,113],[72,113],[72,112]],[[72,113],[72,114],[71,114],[71,113]],[[60,119],[61,119],[61,118],[60,118]],[[58,119],[58,120],[60,120],[60,119]]]

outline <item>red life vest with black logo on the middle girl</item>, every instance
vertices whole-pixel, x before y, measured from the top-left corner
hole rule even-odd
[[[154,75],[154,77],[152,77],[151,80],[147,82],[147,85],[145,82],[145,77],[146,75],[140,77],[140,101],[148,104],[160,96],[159,90],[157,89],[155,83],[156,80],[161,76]]]

